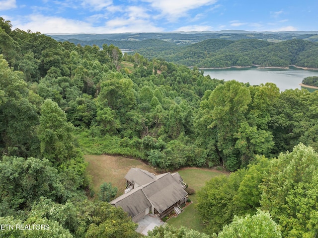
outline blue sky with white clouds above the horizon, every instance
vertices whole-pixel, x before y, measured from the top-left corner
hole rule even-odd
[[[317,31],[318,0],[0,0],[12,28],[41,33]]]

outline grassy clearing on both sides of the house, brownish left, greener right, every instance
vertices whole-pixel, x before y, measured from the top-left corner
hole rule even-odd
[[[88,162],[87,170],[92,175],[95,197],[97,197],[96,195],[98,194],[99,186],[103,182],[111,182],[113,186],[118,188],[116,197],[122,195],[126,185],[124,176],[131,167],[139,167],[158,174],[155,168],[150,167],[138,159],[104,155],[85,155],[84,157]],[[179,172],[184,182],[195,191],[202,188],[205,182],[212,177],[225,174],[208,168],[182,168],[177,170],[177,172]],[[197,203],[196,193],[189,195],[189,198],[191,199],[192,204],[185,207],[183,212],[177,217],[170,218],[167,223],[175,227],[184,226],[197,231],[202,231],[203,225],[200,223],[199,215],[195,209],[195,204]]]

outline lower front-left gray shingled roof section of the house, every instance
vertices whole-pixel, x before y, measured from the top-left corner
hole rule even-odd
[[[135,188],[129,193],[121,195],[112,200],[110,204],[116,207],[122,207],[131,217],[137,216],[139,213],[145,211],[146,208],[151,207],[151,203],[141,188],[142,187]]]

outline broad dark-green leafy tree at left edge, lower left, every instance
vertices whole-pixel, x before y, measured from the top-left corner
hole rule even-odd
[[[29,209],[34,201],[45,196],[63,201],[65,187],[56,168],[48,159],[3,157],[0,161],[0,203],[13,211]],[[0,211],[0,216],[10,210]]]

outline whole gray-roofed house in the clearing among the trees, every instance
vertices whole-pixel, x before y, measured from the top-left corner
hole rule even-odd
[[[110,204],[122,207],[134,222],[150,212],[163,218],[175,211],[181,212],[180,204],[185,203],[188,193],[186,184],[179,173],[155,175],[140,168],[131,168],[125,175],[125,194],[112,200]]]

